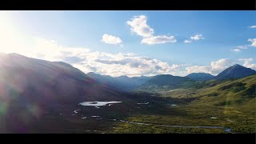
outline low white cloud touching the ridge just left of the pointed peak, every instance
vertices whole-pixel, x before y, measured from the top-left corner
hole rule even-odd
[[[186,70],[187,74],[203,72],[216,75],[222,72],[222,70],[228,68],[229,66],[233,66],[234,64],[235,62],[233,60],[230,60],[228,58],[222,58],[218,61],[211,62],[210,66],[189,66],[186,67]]]

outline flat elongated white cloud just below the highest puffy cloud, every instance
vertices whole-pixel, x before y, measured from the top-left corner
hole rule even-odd
[[[150,38],[143,38],[141,43],[147,44],[147,45],[154,45],[154,44],[160,44],[160,43],[174,43],[174,42],[177,42],[174,36],[160,35],[160,36],[153,36]]]

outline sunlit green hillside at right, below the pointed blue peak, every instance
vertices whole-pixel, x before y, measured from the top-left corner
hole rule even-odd
[[[198,102],[210,102],[216,106],[241,104],[256,98],[256,75],[225,81],[202,82],[201,88],[174,89],[158,91],[163,97],[199,98]],[[157,92],[157,91],[155,91]]]

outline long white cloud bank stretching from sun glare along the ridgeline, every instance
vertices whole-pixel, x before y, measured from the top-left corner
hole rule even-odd
[[[170,65],[155,58],[147,58],[136,54],[90,51],[85,47],[68,47],[44,38],[34,38],[32,46],[20,51],[19,54],[31,58],[40,58],[48,61],[62,61],[85,73],[95,72],[111,76],[127,75],[129,77],[156,74],[179,75],[179,69],[186,65]]]

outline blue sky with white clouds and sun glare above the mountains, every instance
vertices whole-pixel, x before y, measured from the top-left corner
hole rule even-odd
[[[114,77],[256,70],[256,12],[0,11],[0,51]]]

